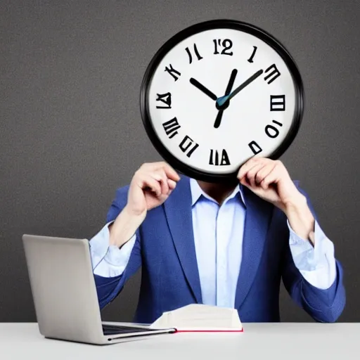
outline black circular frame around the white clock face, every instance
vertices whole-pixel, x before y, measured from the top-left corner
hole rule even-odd
[[[174,169],[181,172],[182,174],[192,177],[193,179],[212,183],[221,183],[235,180],[238,174],[238,169],[240,169],[240,166],[242,164],[239,165],[238,169],[235,172],[231,172],[228,174],[210,174],[209,172],[203,172],[201,170],[190,167],[189,165],[186,165],[184,162],[181,162],[181,160],[172,155],[172,153],[170,153],[169,150],[167,150],[167,148],[162,144],[162,141],[158,138],[158,135],[153,129],[153,124],[151,123],[148,111],[148,89],[153,74],[156,68],[158,68],[160,61],[176,44],[179,44],[179,42],[183,41],[187,37],[192,36],[193,34],[197,34],[198,32],[219,28],[240,30],[242,32],[247,32],[248,34],[252,34],[255,37],[258,37],[266,44],[271,46],[278,53],[278,55],[281,56],[288,69],[290,70],[290,74],[293,77],[296,96],[293,123],[290,127],[290,130],[288,131],[288,135],[285,137],[283,142],[267,158],[277,160],[281,157],[281,155],[283,155],[283,153],[285,153],[285,150],[287,150],[291,143],[293,143],[297,132],[300,129],[302,115],[304,113],[304,88],[300,71],[298,70],[295,60],[293,60],[292,56],[290,56],[288,50],[286,50],[285,47],[280,43],[280,41],[275,39],[268,32],[260,29],[259,27],[256,27],[255,25],[244,23],[242,21],[222,19],[198,23],[187,27],[186,29],[181,30],[180,32],[175,34],[172,38],[166,41],[164,45],[162,45],[162,47],[157,51],[157,53],[155,53],[155,56],[153,56],[152,60],[148,65],[148,68],[146,69],[145,75],[143,76],[140,91],[141,118],[143,120],[143,126],[146,129],[146,133],[148,134],[150,141],[153,143],[155,149],[158,150],[158,153],[160,153],[162,158],[169,163],[169,165],[174,167]]]

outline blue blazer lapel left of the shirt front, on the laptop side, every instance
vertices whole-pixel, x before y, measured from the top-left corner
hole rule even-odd
[[[195,253],[191,189],[188,177],[182,176],[164,203],[167,223],[188,284],[198,303],[202,303],[200,276]]]

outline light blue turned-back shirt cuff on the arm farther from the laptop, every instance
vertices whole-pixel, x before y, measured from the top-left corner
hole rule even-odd
[[[315,221],[314,226],[314,245],[298,236],[289,221],[288,228],[290,251],[300,274],[316,288],[330,288],[336,278],[334,245],[323,233],[318,221]]]

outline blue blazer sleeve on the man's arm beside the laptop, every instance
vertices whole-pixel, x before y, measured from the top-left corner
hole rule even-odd
[[[127,192],[129,191],[129,186],[124,186],[117,189],[115,199],[110,205],[108,214],[106,217],[106,222],[113,221],[117,218],[117,215],[120,214],[124,206],[127,204]],[[125,267],[124,271],[120,276],[114,276],[111,278],[106,278],[94,274],[96,292],[98,294],[98,302],[100,309],[103,309],[106,305],[110,304],[117,295],[120,294],[121,290],[124,288],[125,283],[131,276],[133,276],[136,271],[141,267],[141,233],[139,229],[136,231],[136,240],[134,247],[131,250],[131,255],[129,257],[129,262]]]

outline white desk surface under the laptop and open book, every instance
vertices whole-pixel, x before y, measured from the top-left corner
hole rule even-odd
[[[37,323],[0,323],[0,359],[360,359],[360,323],[244,323],[240,334],[176,333],[115,345],[49,340]]]

